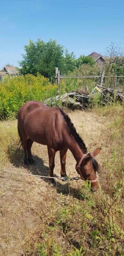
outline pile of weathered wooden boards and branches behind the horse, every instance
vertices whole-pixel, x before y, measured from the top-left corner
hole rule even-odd
[[[73,109],[87,109],[89,104],[94,101],[94,95],[96,94],[99,95],[99,100],[103,105],[107,103],[112,104],[113,102],[117,101],[124,101],[124,92],[113,90],[111,88],[105,88],[100,85],[96,85],[94,90],[89,95],[85,95],[85,91],[82,93],[79,91],[77,92],[76,90],[76,92],[68,92],[63,95],[57,95],[56,97],[47,99],[44,103],[53,107],[62,104]]]

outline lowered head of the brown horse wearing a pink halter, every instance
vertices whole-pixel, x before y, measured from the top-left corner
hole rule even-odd
[[[99,170],[97,161],[94,159],[101,151],[101,148],[95,149],[92,153],[87,153],[82,156],[78,166],[77,172],[80,174],[83,180],[91,182],[92,191],[98,190],[98,181],[96,177],[96,171]]]

